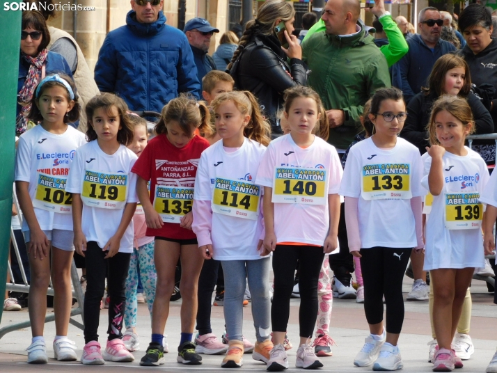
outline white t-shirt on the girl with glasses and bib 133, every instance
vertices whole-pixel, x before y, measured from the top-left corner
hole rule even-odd
[[[407,170],[407,165],[409,174],[397,173],[397,170]],[[390,170],[391,174],[381,173],[384,169]],[[374,174],[376,171],[379,173]],[[373,176],[365,176],[368,172]],[[409,188],[407,175],[410,175]],[[365,200],[363,184],[375,176],[378,176],[378,194],[386,199]],[[402,180],[396,178],[399,176]],[[404,138],[397,138],[395,147],[390,150],[377,148],[372,138],[366,138],[350,148],[340,194],[358,198],[361,248],[413,248],[418,245],[411,199],[393,199],[390,196],[402,189],[409,189],[411,197],[424,196],[426,191],[421,187],[421,177],[423,165],[419,150]],[[404,192],[407,193],[406,190]]]

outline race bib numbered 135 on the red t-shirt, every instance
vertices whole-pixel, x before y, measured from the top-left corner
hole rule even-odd
[[[164,223],[181,223],[181,218],[191,212],[193,204],[193,188],[155,187],[154,209]]]

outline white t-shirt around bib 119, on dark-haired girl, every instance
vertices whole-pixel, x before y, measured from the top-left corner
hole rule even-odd
[[[98,146],[97,140],[90,141],[79,148],[72,162],[68,177],[67,191],[79,193],[83,191],[83,181],[86,170],[95,173],[125,173],[128,175],[126,203],[138,202],[136,196],[135,173],[131,172],[134,162],[138,159],[136,154],[120,145],[117,152],[112,155],[105,154]],[[103,248],[107,241],[116,234],[124,209],[104,209],[101,207],[90,207],[83,203],[83,216],[81,228],[86,241],[96,241]],[[133,252],[133,220],[126,228],[125,234],[120,242],[120,253]]]

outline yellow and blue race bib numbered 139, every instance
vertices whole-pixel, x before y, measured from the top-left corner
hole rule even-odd
[[[445,228],[477,229],[482,228],[483,205],[480,193],[445,194]]]

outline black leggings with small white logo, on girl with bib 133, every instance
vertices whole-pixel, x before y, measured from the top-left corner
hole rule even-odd
[[[402,280],[411,248],[361,248],[364,281],[364,312],[368,324],[383,321],[383,296],[386,303],[386,331],[399,334],[404,322]]]

